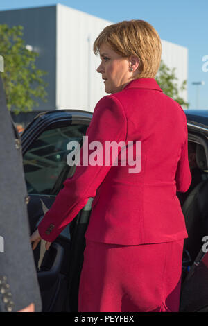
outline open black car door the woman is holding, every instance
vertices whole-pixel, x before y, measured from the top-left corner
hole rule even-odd
[[[28,219],[31,234],[36,230],[66,178],[76,166],[67,164],[67,144],[80,146],[92,114],[76,110],[56,110],[39,114],[21,135]],[[42,295],[42,311],[77,311],[78,284],[83,266],[85,230],[92,198],[45,250],[41,241],[33,250]],[[26,268],[26,266],[25,266]]]

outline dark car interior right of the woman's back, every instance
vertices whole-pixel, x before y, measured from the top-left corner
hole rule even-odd
[[[191,185],[186,193],[177,196],[189,235],[184,239],[184,255],[191,266],[202,248],[202,237],[208,235],[208,166],[202,144],[189,141],[188,149]]]

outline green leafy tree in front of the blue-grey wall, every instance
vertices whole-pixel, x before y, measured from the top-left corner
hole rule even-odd
[[[26,49],[23,27],[0,25],[0,55],[4,58],[4,72],[1,73],[6,92],[8,109],[19,112],[31,111],[38,106],[36,98],[46,101],[45,71],[36,68],[38,53]]]

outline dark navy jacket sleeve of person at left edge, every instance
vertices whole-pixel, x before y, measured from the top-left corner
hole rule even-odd
[[[42,301],[30,243],[21,147],[15,147],[1,78],[0,148],[0,311],[19,311],[34,303],[38,312]]]

